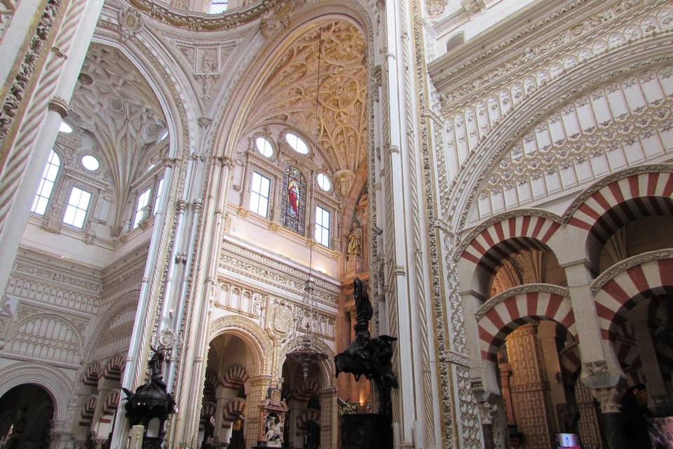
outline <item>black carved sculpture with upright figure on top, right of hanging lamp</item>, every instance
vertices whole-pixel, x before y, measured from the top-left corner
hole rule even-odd
[[[397,379],[390,366],[393,358],[393,342],[397,340],[389,335],[369,336],[369,320],[374,315],[372,303],[360,279],[353,281],[355,297],[355,341],[344,352],[334,357],[334,365],[339,373],[351,373],[355,380],[361,375],[372,380],[379,393],[379,413],[391,416],[390,389],[397,388]]]

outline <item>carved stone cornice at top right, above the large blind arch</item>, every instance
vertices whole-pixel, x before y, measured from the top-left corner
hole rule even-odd
[[[430,63],[428,72],[441,94],[442,109],[448,112],[493,92],[557,58],[559,51],[580,48],[664,3],[653,0],[643,6],[640,2],[573,0],[560,7],[555,1],[526,8],[495,30]],[[577,8],[583,9],[568,17]]]

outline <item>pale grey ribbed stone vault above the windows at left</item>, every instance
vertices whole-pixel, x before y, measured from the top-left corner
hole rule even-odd
[[[92,44],[70,112],[69,121],[91,133],[99,146],[101,166],[109,170],[116,199],[111,225],[118,226],[132,182],[157,156],[152,146],[166,127],[161,105],[128,58],[114,48]]]

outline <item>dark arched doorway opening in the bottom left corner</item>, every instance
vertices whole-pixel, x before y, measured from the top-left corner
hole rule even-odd
[[[0,446],[9,449],[49,447],[54,403],[43,388],[23,384],[0,398]]]

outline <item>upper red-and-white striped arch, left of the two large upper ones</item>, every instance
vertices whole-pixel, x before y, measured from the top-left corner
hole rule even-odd
[[[536,215],[508,217],[482,229],[461,257],[495,272],[504,259],[521,250],[549,250],[546,243],[559,227],[558,222]]]

